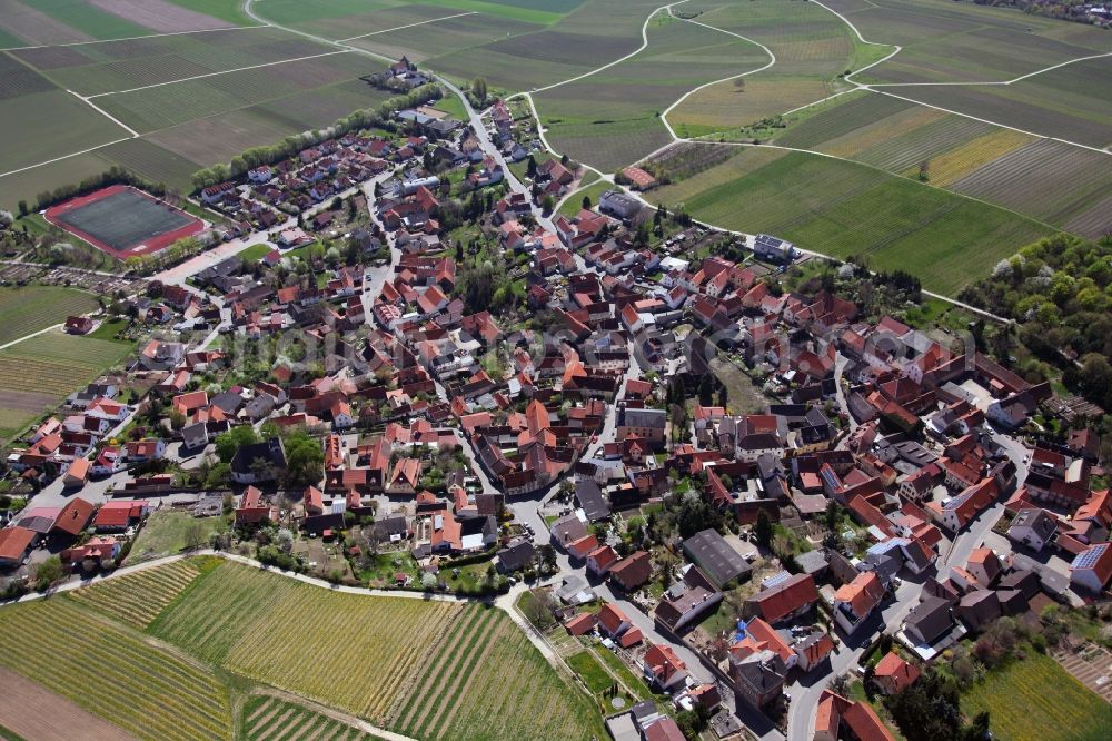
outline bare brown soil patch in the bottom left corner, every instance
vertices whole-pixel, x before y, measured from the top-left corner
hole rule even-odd
[[[128,741],[131,737],[40,684],[0,669],[0,725],[29,741]]]

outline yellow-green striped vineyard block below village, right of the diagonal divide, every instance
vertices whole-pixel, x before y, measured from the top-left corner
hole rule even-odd
[[[586,698],[493,609],[321,592],[229,563],[149,630],[206,662],[378,725],[420,728],[423,739],[598,732]],[[506,676],[517,678],[514,692],[505,692]],[[460,694],[466,702],[450,701]]]

